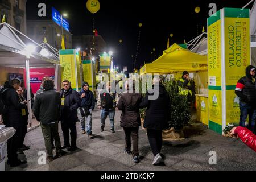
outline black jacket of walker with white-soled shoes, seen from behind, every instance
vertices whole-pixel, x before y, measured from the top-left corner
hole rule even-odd
[[[154,86],[153,86],[154,89]],[[170,119],[170,98],[164,85],[159,84],[159,97],[156,100],[148,100],[148,96],[140,104],[140,107],[147,107],[143,127],[146,129],[163,130],[167,127]]]

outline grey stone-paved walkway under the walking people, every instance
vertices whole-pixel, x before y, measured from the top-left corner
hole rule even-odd
[[[164,164],[153,166],[153,155],[148,144],[146,132],[139,130],[139,152],[141,162],[134,164],[130,155],[123,152],[125,147],[124,133],[119,127],[121,111],[115,115],[116,133],[110,133],[109,120],[106,120],[104,132],[100,132],[100,110],[93,112],[93,135],[81,135],[80,123],[77,123],[77,146],[79,150],[67,152],[61,158],[46,165],[38,164],[38,152],[45,151],[41,128],[30,131],[26,135],[25,144],[31,150],[24,151],[28,163],[11,168],[6,164],[6,170],[106,170],[106,171],[171,171],[171,170],[256,170],[256,153],[245,146],[239,139],[225,138],[207,129],[201,123],[192,123],[187,127],[187,139],[178,142],[164,142],[162,153],[166,156]],[[60,130],[61,142],[63,134]],[[217,154],[217,164],[209,164],[209,152]]]

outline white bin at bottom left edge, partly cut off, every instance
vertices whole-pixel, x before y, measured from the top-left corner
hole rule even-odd
[[[7,140],[13,137],[15,132],[13,127],[0,126],[0,171],[5,171]]]

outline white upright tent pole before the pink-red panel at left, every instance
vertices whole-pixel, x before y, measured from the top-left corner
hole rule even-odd
[[[30,59],[29,56],[26,57],[26,85],[27,85],[27,100],[29,101],[31,99],[31,93],[30,93]],[[29,127],[32,126],[32,109],[31,109],[31,101],[28,102],[28,123]]]

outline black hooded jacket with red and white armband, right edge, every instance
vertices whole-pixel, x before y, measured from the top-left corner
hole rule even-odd
[[[253,66],[246,68],[246,76],[238,80],[235,93],[240,98],[240,101],[255,105],[256,102],[256,88],[255,88],[255,76],[251,76],[250,71]]]

